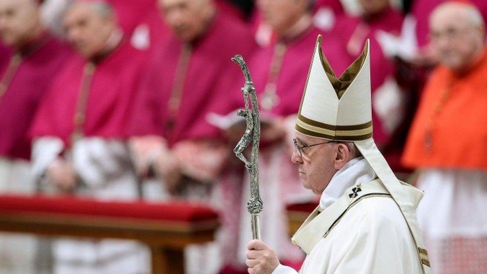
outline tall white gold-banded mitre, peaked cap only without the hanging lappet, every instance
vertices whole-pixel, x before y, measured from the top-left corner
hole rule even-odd
[[[307,136],[334,141],[371,139],[369,41],[340,77],[324,56],[321,42],[319,35],[295,129]]]

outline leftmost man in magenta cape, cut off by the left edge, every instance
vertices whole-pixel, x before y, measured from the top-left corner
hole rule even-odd
[[[40,10],[36,0],[0,0],[0,192],[35,191],[27,132],[68,55],[44,26]],[[29,237],[1,237],[0,272],[31,272],[34,246]]]

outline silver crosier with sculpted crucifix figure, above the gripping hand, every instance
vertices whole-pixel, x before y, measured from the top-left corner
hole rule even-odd
[[[252,229],[253,239],[260,239],[259,215],[263,208],[262,200],[259,194],[258,185],[258,150],[260,140],[260,119],[258,111],[257,95],[253,86],[252,77],[248,71],[247,64],[241,55],[235,55],[232,58],[234,63],[239,64],[245,77],[245,84],[242,88],[243,102],[245,109],[239,109],[238,115],[245,118],[246,128],[239,143],[234,149],[235,155],[242,160],[245,168],[250,173],[250,199],[247,202],[247,210],[250,213],[250,226]],[[251,105],[251,107],[250,107]],[[243,156],[243,151],[249,145],[252,145],[250,161]]]

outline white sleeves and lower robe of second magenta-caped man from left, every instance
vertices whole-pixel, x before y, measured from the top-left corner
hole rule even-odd
[[[45,170],[64,149],[60,139],[42,137],[34,142],[33,172],[46,187]],[[119,140],[83,138],[64,157],[79,176],[75,193],[102,201],[138,199],[137,177],[129,149]],[[56,240],[53,243],[56,274],[149,273],[148,250],[134,241]]]

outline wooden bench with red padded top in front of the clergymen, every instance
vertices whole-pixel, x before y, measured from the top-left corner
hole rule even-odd
[[[0,196],[0,231],[137,240],[151,249],[153,274],[183,274],[185,247],[214,241],[218,227],[201,205]]]

